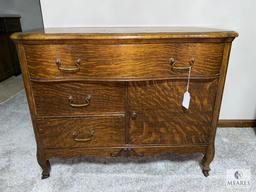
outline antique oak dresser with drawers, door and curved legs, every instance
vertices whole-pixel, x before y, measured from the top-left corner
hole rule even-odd
[[[203,153],[208,176],[231,43],[237,36],[186,27],[45,29],[12,35],[42,178],[49,177],[53,157],[167,152]],[[188,108],[183,104],[187,89]]]

